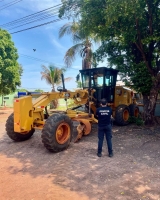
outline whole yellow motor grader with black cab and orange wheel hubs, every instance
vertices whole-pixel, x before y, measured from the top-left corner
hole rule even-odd
[[[29,139],[36,129],[42,130],[42,142],[52,152],[66,149],[72,139],[73,121],[85,124],[85,133],[91,131],[91,124],[97,123],[96,108],[100,100],[106,98],[113,110],[113,117],[118,125],[127,125],[129,116],[137,117],[139,108],[136,105],[133,91],[116,86],[118,70],[106,67],[80,70],[83,89],[71,92],[58,87],[58,92],[41,93],[35,100],[32,95],[15,99],[14,112],[6,121],[6,132],[15,141]],[[54,99],[73,99],[76,107],[48,114],[47,105]],[[85,107],[84,111],[78,110]],[[81,109],[82,110],[82,109]]]

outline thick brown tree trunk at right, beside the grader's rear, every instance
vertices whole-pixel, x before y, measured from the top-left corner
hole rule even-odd
[[[154,125],[154,114],[158,97],[158,81],[154,80],[150,95],[143,95],[145,125]]]

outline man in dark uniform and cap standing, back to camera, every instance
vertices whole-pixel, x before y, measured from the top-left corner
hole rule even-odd
[[[111,118],[112,109],[107,106],[106,99],[101,100],[101,107],[97,109],[96,115],[98,117],[98,152],[97,156],[102,156],[102,146],[104,135],[106,137],[109,157],[113,156],[112,151],[112,130],[111,130]]]

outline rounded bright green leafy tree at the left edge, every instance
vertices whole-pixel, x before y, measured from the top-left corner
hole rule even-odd
[[[0,95],[15,92],[20,86],[22,67],[18,64],[18,53],[10,34],[0,29]]]

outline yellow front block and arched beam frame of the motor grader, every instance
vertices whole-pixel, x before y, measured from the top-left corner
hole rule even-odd
[[[45,124],[44,108],[54,99],[73,99],[75,104],[83,105],[88,101],[87,90],[76,90],[75,92],[52,92],[42,93],[34,102],[32,96],[25,96],[16,99],[14,102],[14,131],[25,134],[32,128],[43,129]],[[94,121],[87,113],[67,110],[66,114],[70,118],[88,118],[89,121]],[[81,116],[80,116],[81,115]],[[96,119],[95,119],[96,121]]]

